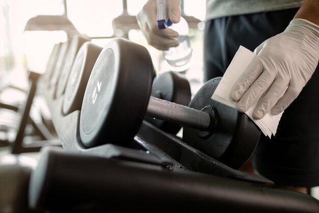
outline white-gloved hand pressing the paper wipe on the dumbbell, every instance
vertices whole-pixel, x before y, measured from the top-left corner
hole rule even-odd
[[[234,86],[231,98],[239,101],[241,112],[258,101],[253,117],[261,119],[269,111],[277,115],[285,110],[311,78],[319,59],[319,26],[293,19],[284,32],[265,40],[254,53],[256,59]]]

